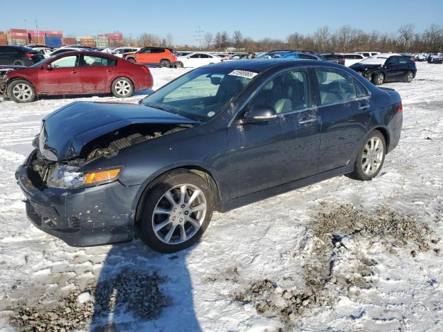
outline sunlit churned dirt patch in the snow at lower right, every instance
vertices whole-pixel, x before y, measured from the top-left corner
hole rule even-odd
[[[289,329],[307,310],[333,305],[340,296],[374,287],[377,261],[368,257],[368,248],[381,246],[391,254],[407,249],[416,255],[436,243],[428,225],[413,216],[386,208],[367,213],[353,205],[340,205],[318,213],[307,225],[306,241],[300,248],[305,288],[282,289],[277,282],[265,279],[233,297],[241,304],[251,304],[261,315],[275,317]]]

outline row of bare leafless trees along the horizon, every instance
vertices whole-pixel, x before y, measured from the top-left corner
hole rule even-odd
[[[126,38],[125,44],[155,45],[174,47],[172,35],[161,38],[150,33],[142,33],[136,39]],[[351,26],[332,30],[328,26],[318,28],[314,33],[304,35],[292,33],[286,39],[265,37],[252,39],[244,37],[240,30],[229,35],[226,30],[215,35],[206,33],[199,46],[186,46],[188,50],[225,51],[228,48],[247,52],[264,52],[272,49],[311,50],[314,52],[354,52],[374,50],[380,52],[442,52],[443,28],[431,24],[422,33],[415,32],[413,24],[400,26],[397,33],[366,33]],[[183,46],[178,46],[179,48]]]

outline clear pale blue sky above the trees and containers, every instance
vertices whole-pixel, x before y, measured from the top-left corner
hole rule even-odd
[[[0,30],[62,30],[64,35],[97,35],[120,31],[136,37],[171,33],[174,44],[198,44],[196,30],[215,35],[242,31],[244,37],[285,39],[310,34],[320,26],[343,25],[366,32],[396,33],[412,23],[416,32],[443,24],[443,0],[188,0],[188,1],[35,1],[0,0]],[[7,15],[4,15],[8,13]],[[203,33],[203,34],[204,34]]]

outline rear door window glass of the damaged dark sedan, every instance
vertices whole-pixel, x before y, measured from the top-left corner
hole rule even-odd
[[[329,68],[318,68],[316,77],[321,105],[347,102],[356,98],[354,80],[347,73]]]

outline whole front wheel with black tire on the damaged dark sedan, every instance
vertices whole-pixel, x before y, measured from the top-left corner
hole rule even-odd
[[[141,240],[165,253],[186,249],[197,242],[213,215],[209,183],[187,169],[158,178],[141,201],[138,221]]]

